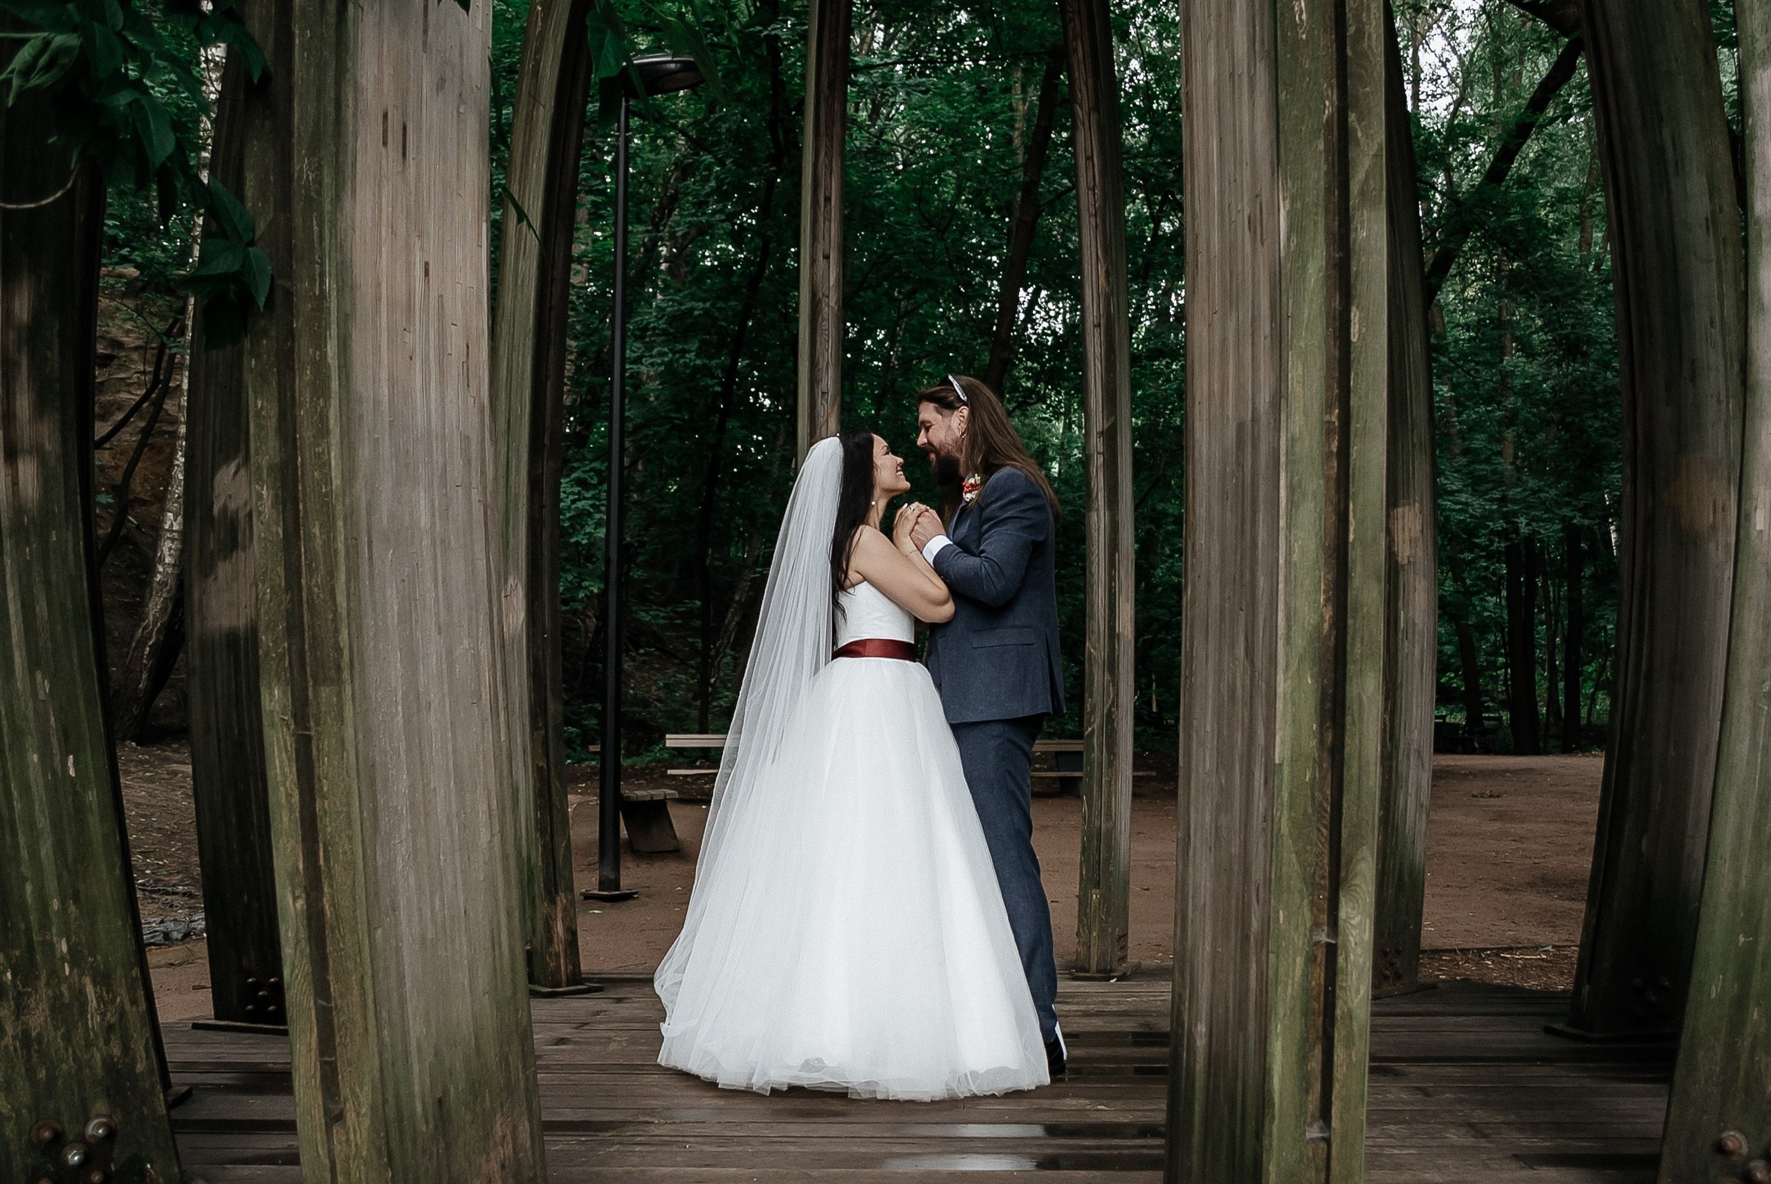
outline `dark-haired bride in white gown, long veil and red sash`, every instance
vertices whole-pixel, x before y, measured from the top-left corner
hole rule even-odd
[[[1045,1044],[916,621],[953,616],[903,460],[818,441],[788,501],[682,934],[659,1064],[767,1094],[1045,1085]],[[834,657],[832,657],[834,637]]]

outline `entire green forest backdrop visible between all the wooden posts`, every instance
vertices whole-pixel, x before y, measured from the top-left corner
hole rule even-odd
[[[494,193],[526,7],[492,0]],[[662,756],[668,731],[724,726],[793,480],[806,28],[804,11],[779,0],[616,7],[641,48],[664,21],[692,19],[717,64],[717,87],[634,106],[623,711],[630,759],[646,759]],[[1574,30],[1558,19],[1567,7],[1394,4],[1433,296],[1438,708],[1461,743],[1502,752],[1601,747],[1610,710],[1617,342],[1590,94]],[[1713,11],[1737,140],[1732,5]],[[1169,5],[1119,5],[1114,32],[1137,747],[1171,750],[1185,531],[1179,27]],[[1057,588],[1071,713],[1048,734],[1075,734],[1082,697],[1082,345],[1063,65],[1056,5],[855,5],[843,421],[880,432],[909,460],[910,496],[933,499],[914,450],[916,391],[1006,361],[1004,400],[1064,506]],[[200,124],[186,97],[168,90],[166,106],[181,131]],[[600,729],[613,138],[606,122],[586,136],[572,267],[561,602],[574,759]],[[1032,234],[1015,235],[1017,221]],[[498,235],[494,225],[494,251]],[[161,543],[177,526],[165,490],[179,457],[177,276],[189,255],[184,218],[163,225],[151,195],[112,191],[97,527],[115,536],[104,580],[117,678],[131,644],[140,650],[156,563],[177,561]],[[1015,310],[1006,320],[1004,299]],[[149,680],[166,683],[143,717],[151,733],[184,724],[175,646],[174,630]]]

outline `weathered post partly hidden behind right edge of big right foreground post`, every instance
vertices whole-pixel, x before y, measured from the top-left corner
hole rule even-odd
[[[1383,798],[1373,989],[1420,980],[1438,696],[1438,545],[1433,501],[1433,372],[1427,350],[1420,193],[1396,25],[1385,28],[1385,152],[1390,204],[1390,566],[1383,674]]]

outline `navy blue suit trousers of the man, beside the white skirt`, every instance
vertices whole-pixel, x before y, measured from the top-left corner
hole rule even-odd
[[[1057,1037],[1057,965],[1052,961],[1052,906],[1032,851],[1032,742],[1043,715],[953,724],[960,765],[971,786],[978,821],[995,864],[1008,924],[1040,1014],[1040,1035]]]

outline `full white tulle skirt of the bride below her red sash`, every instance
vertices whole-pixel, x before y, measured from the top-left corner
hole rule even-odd
[[[721,807],[659,966],[659,1064],[767,1094],[933,1101],[1048,1081],[960,752],[916,662],[839,658]]]

